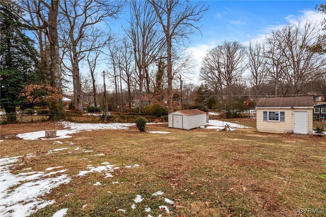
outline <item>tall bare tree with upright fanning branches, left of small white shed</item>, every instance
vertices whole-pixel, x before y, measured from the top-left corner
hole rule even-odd
[[[158,53],[163,47],[163,36],[156,29],[158,22],[155,11],[147,1],[130,2],[130,21],[126,33],[133,45],[133,55],[138,71],[139,83],[139,112],[143,109],[144,80],[149,94],[150,79],[149,65],[158,58]]]

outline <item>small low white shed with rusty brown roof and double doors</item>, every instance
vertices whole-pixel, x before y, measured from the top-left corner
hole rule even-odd
[[[193,129],[206,125],[206,112],[198,109],[181,110],[169,114],[169,127]]]

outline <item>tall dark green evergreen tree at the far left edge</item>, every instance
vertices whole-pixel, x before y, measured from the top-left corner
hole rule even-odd
[[[26,100],[19,97],[23,87],[40,77],[34,41],[25,35],[20,15],[11,1],[0,1],[0,105],[8,123],[16,122],[16,106]]]

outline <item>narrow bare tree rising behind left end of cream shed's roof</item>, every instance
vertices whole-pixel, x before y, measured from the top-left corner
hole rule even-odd
[[[247,67],[250,71],[248,82],[254,91],[256,99],[258,95],[263,93],[262,88],[265,85],[267,76],[267,58],[264,51],[264,43],[249,42],[247,49]]]

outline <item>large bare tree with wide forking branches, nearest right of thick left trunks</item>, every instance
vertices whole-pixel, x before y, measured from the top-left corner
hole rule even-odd
[[[110,18],[117,18],[123,7],[123,2],[107,2],[105,0],[89,1],[63,1],[59,5],[63,19],[61,25],[61,40],[64,48],[64,54],[71,63],[74,103],[75,108],[83,111],[82,89],[80,85],[79,62],[84,59],[85,52],[96,50],[100,46],[89,47],[90,38],[93,38],[98,31],[94,25],[100,22],[106,22]]]

